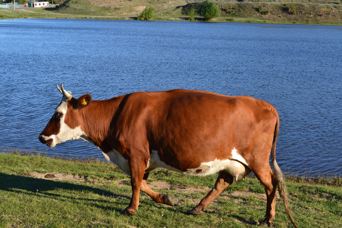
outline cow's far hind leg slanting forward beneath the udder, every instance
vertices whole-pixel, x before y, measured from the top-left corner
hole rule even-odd
[[[187,214],[199,215],[202,211],[207,210],[207,206],[218,197],[224,189],[233,183],[234,177],[228,174],[226,171],[220,171],[219,176],[216,179],[215,186],[210,190],[208,195],[204,197],[194,209],[187,211]]]

